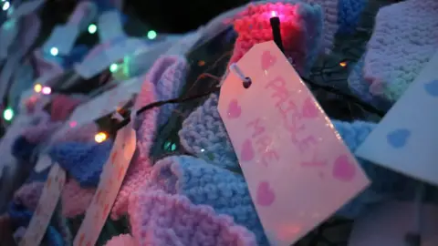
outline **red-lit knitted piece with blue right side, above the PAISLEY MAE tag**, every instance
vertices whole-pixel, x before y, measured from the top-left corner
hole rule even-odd
[[[237,62],[252,46],[273,40],[269,19],[276,13],[285,54],[300,74],[308,73],[322,45],[322,10],[319,5],[297,1],[250,4],[237,15],[235,49],[230,63]]]

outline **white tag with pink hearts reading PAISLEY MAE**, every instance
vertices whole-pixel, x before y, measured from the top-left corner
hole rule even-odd
[[[370,181],[273,41],[255,45],[230,72],[219,113],[271,245],[290,245]]]

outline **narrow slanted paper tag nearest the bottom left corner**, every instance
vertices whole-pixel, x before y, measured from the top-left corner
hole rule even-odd
[[[44,186],[34,216],[30,220],[24,238],[20,241],[20,246],[39,245],[46,233],[48,223],[57,207],[57,200],[66,182],[66,172],[54,165],[48,173],[48,178]]]

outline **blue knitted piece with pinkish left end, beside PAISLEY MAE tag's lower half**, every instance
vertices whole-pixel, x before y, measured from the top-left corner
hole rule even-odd
[[[263,228],[243,176],[190,156],[159,160],[149,182],[141,190],[164,190],[184,195],[194,204],[212,206],[219,214],[255,233],[259,245],[267,245]]]

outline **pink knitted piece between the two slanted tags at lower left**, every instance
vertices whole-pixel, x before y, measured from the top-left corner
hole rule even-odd
[[[67,218],[84,214],[95,192],[96,189],[81,188],[78,181],[68,179],[61,194],[62,214]]]

